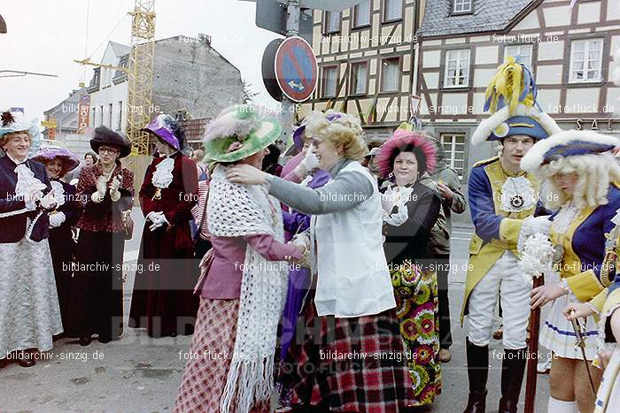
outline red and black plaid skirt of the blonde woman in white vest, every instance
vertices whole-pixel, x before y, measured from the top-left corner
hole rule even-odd
[[[306,302],[280,370],[292,405],[323,411],[397,412],[415,402],[396,310],[318,317]]]

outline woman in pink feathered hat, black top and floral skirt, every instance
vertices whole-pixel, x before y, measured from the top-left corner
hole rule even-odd
[[[414,382],[411,406],[430,404],[441,393],[437,272],[427,252],[441,199],[419,180],[435,162],[436,149],[430,139],[403,129],[384,143],[376,158],[384,177],[393,179],[386,181],[382,194],[384,251]]]

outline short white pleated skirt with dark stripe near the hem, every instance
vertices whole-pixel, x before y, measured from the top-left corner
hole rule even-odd
[[[571,292],[564,294],[551,304],[549,316],[541,325],[540,340],[541,346],[550,349],[555,356],[582,360],[581,348],[575,344],[577,336],[572,324],[564,317],[562,311],[570,302],[579,302],[575,294]],[[582,325],[582,333],[585,335],[585,357],[593,360],[596,357],[596,340],[599,336],[598,327],[593,317],[584,319],[579,318]]]

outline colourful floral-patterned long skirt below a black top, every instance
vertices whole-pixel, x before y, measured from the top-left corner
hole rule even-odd
[[[430,404],[441,394],[437,273],[405,264],[395,266],[390,275],[407,367],[414,381],[413,405]]]

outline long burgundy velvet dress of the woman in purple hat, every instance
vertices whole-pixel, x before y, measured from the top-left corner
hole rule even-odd
[[[145,221],[140,242],[129,326],[146,327],[151,336],[192,333],[198,312],[198,297],[192,292],[200,273],[198,262],[192,259],[190,233],[191,208],[198,202],[198,174],[189,157],[179,153],[170,157],[174,159],[173,180],[161,189],[161,199],[153,199],[157,188],[151,180],[165,157],[153,159],[139,194],[144,217],[163,212],[170,224],[151,231],[151,221]]]

